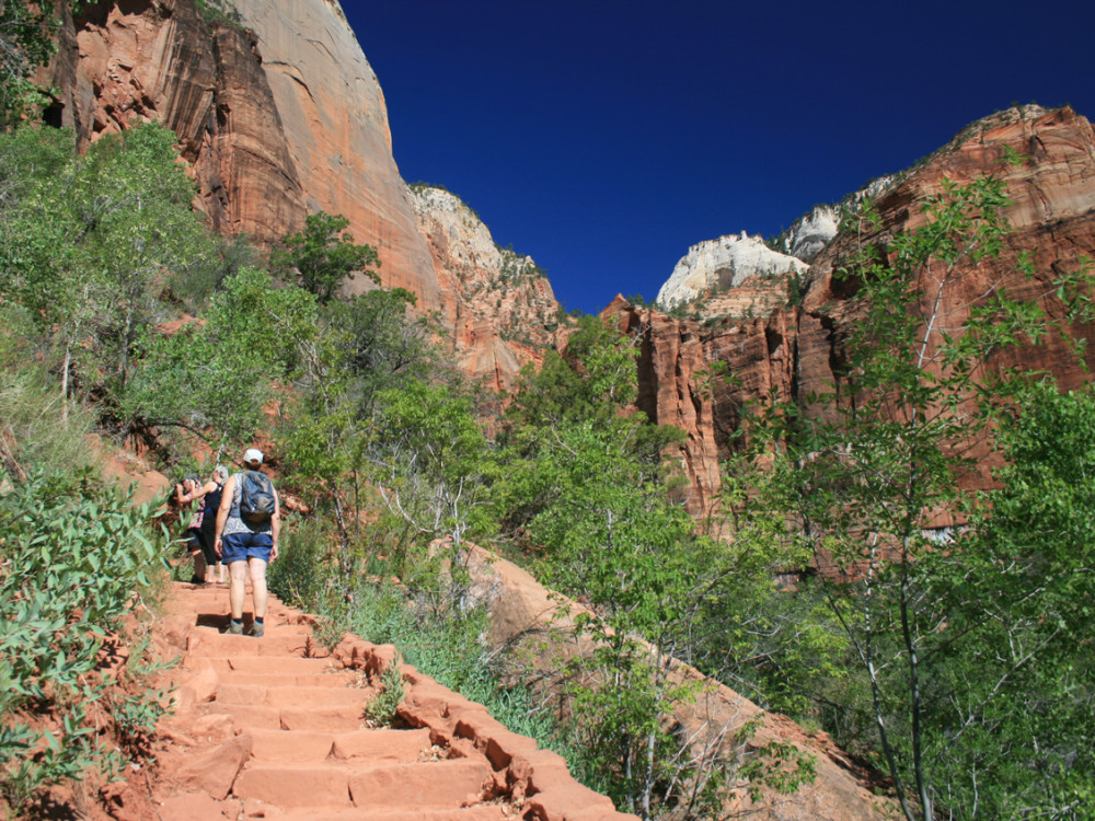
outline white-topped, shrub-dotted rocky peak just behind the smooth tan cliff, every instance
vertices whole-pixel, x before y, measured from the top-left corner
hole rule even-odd
[[[551,284],[531,257],[495,245],[479,215],[456,195],[415,186],[408,196],[460,369],[493,390],[508,389],[521,366],[540,361],[556,343]]]

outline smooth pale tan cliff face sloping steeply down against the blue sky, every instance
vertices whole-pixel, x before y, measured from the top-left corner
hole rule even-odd
[[[331,0],[233,0],[254,30],[309,211],[341,213],[380,254],[381,281],[441,308],[395,161],[383,92],[342,8]],[[366,280],[358,278],[357,287]]]

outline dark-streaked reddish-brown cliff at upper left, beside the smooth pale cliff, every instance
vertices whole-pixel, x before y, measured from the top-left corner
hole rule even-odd
[[[188,0],[89,5],[59,35],[44,72],[50,118],[81,147],[141,122],[178,136],[214,228],[260,243],[303,222],[304,197],[257,42],[210,26]]]

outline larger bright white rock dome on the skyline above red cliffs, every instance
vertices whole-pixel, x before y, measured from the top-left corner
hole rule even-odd
[[[772,251],[759,236],[745,233],[707,240],[689,248],[669,280],[658,291],[665,308],[691,302],[710,293],[735,288],[747,279],[785,279],[809,266],[802,259]]]

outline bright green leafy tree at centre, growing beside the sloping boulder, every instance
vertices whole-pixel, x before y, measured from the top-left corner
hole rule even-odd
[[[675,713],[702,691],[675,659],[691,659],[706,629],[698,621],[704,603],[733,567],[671,501],[665,454],[681,432],[626,409],[637,393],[636,357],[635,340],[586,317],[565,357],[522,373],[493,496],[534,551],[538,577],[588,604],[574,618],[577,652],[556,672],[595,783],[643,818],[702,818],[749,771],[727,752],[727,728],[704,739],[675,735]],[[788,761],[780,786],[793,790],[811,768],[800,756]],[[756,786],[772,771],[750,775]]]

